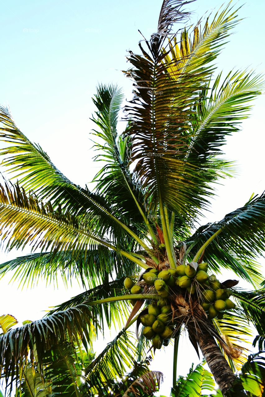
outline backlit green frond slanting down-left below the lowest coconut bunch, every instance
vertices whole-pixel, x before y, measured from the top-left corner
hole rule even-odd
[[[92,393],[105,395],[111,393],[117,382],[127,374],[136,354],[133,333],[120,331],[107,344],[105,349],[85,368],[85,380],[90,384]]]

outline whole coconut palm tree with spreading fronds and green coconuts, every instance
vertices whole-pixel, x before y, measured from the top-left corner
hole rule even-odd
[[[89,288],[41,320],[3,330],[0,368],[10,389],[15,384],[25,393],[33,385],[35,395],[51,395],[66,385],[64,392],[77,396],[150,395],[162,374],[149,371],[146,352],[171,339],[177,396],[177,347],[185,330],[223,396],[241,393],[234,371],[244,362],[241,345],[252,335],[248,324],[259,335],[265,330],[265,289],[257,263],[265,248],[265,195],[196,227],[214,183],[231,173],[222,145],[240,130],[263,83],[252,71],[216,73],[214,61],[239,21],[238,10],[229,4],[187,29],[188,3],[164,0],[157,33],[142,39],[140,53],[129,53],[125,74],[133,81],[134,97],[123,108],[122,134],[117,132],[121,89],[97,88],[95,161],[104,164],[94,192],[65,177],[18,129],[9,110],[0,109],[2,165],[17,181],[3,179],[0,186],[1,238],[9,251],[32,249],[0,265],[0,274],[12,270],[22,283],[39,277],[53,281],[62,274]],[[253,291],[207,274],[223,269],[251,283]],[[155,317],[152,310],[160,319],[166,316],[154,318],[163,330],[154,321],[146,330],[146,315]],[[137,343],[130,329],[134,322]],[[139,336],[140,322],[145,331]],[[93,341],[106,326],[121,331],[93,358]],[[64,377],[66,367],[71,376]]]

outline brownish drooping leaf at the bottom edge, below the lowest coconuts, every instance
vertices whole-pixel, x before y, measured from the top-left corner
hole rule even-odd
[[[149,371],[134,380],[130,387],[125,391],[123,397],[140,397],[142,395],[153,395],[160,389],[160,383],[163,382],[163,374],[160,371]]]

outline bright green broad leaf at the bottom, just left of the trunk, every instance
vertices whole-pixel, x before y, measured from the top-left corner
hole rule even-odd
[[[183,376],[178,378],[177,384],[171,391],[173,397],[198,397],[204,390],[214,390],[212,374],[203,365],[198,364],[195,369],[192,366],[186,378]]]

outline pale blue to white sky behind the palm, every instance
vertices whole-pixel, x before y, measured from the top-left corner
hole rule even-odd
[[[131,82],[121,72],[129,65],[127,50],[138,50],[138,29],[147,38],[156,31],[162,0],[112,2],[101,0],[10,0],[1,1],[0,34],[0,103],[10,106],[18,127],[47,151],[51,160],[74,183],[84,186],[98,170],[93,163],[90,117],[94,109],[91,97],[98,83],[113,83],[131,96]],[[242,6],[243,20],[229,37],[218,58],[218,70],[253,68],[264,73],[265,2],[232,2]],[[244,5],[243,5],[244,4]],[[217,10],[222,1],[197,0],[191,20],[196,23],[209,10]],[[228,139],[226,158],[237,163],[238,176],[218,186],[212,212],[205,223],[221,219],[226,213],[244,205],[251,194],[265,190],[264,177],[264,95],[255,100],[250,119],[242,131]],[[3,170],[2,170],[3,171]],[[25,252],[26,253],[26,252]],[[21,252],[2,252],[0,260]],[[10,277],[0,280],[0,314],[10,313],[19,321],[35,320],[48,307],[80,292],[78,283],[57,291],[52,285],[39,283],[33,290],[23,290]],[[105,342],[97,342],[100,350]],[[178,374],[185,375],[193,361],[198,362],[187,341],[181,342]],[[172,351],[158,353],[153,369],[161,360],[166,372],[169,393]]]

